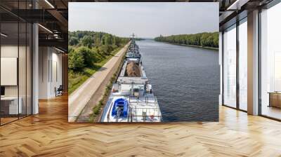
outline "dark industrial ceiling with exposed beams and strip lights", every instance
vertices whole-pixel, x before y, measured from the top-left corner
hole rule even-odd
[[[39,44],[67,50],[68,2],[132,1],[132,0],[1,0],[1,22],[38,22]],[[243,11],[268,4],[272,0],[138,0],[219,2],[220,27]],[[35,9],[36,8],[36,9]]]

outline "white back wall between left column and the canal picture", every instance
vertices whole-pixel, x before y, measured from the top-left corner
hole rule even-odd
[[[55,48],[39,47],[39,99],[55,97],[61,84],[62,55]]]

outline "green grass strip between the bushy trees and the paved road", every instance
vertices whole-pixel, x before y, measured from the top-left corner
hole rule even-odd
[[[68,95],[74,92],[81,84],[83,84],[89,77],[91,77],[100,67],[103,67],[103,65],[110,60],[114,55],[116,55],[119,50],[121,50],[123,46],[117,48],[112,52],[112,55],[108,55],[105,57],[104,60],[101,62],[97,62],[93,64],[93,67],[85,67],[79,72],[74,72],[72,70],[68,71]]]

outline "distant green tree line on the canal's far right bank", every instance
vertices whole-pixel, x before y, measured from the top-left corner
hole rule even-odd
[[[218,48],[218,32],[157,36],[155,41]]]

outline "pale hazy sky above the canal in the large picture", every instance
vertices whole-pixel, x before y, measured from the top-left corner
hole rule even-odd
[[[69,30],[156,37],[218,31],[218,3],[69,3]]]

